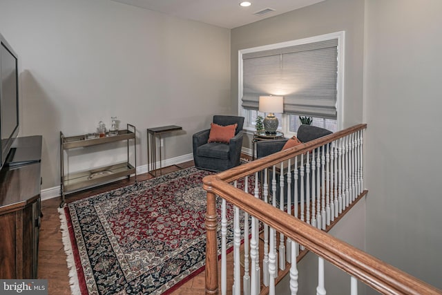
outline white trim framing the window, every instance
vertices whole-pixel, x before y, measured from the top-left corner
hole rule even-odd
[[[332,32],[325,35],[319,35],[314,37],[308,37],[304,39],[298,39],[294,41],[285,41],[280,42],[276,44],[269,44],[264,46],[258,46],[253,48],[246,48],[238,50],[238,114],[246,117],[247,110],[242,108],[242,94],[243,94],[243,88],[242,88],[242,55],[246,53],[255,53],[257,51],[263,51],[263,50],[271,50],[271,49],[278,49],[278,48],[284,48],[289,46],[296,46],[301,44],[309,44],[314,43],[318,41],[327,41],[330,39],[338,39],[338,77],[337,77],[337,85],[336,85],[336,112],[338,113],[336,122],[338,126],[338,130],[343,129],[343,122],[344,122],[344,69],[345,69],[345,31],[340,32]],[[285,135],[291,135],[294,133],[289,133],[289,115],[282,114],[282,120],[284,121],[282,124],[282,132],[285,133]],[[254,126],[249,124],[248,118],[245,120],[246,124],[244,124],[244,131],[255,131]]]

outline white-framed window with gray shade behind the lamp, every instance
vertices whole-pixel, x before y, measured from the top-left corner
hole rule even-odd
[[[284,97],[284,113],[276,114],[279,131],[296,133],[299,116],[331,131],[343,121],[344,32],[239,51],[238,113],[244,129],[255,130],[260,95]]]

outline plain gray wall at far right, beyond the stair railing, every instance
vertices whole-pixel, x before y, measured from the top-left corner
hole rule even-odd
[[[442,289],[442,1],[366,3],[367,251]]]

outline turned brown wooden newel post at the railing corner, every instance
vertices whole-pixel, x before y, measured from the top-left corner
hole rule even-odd
[[[206,211],[206,295],[218,294],[218,240],[216,196],[207,192]]]

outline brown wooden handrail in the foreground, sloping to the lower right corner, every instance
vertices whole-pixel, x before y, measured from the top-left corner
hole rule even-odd
[[[382,294],[442,294],[441,290],[410,276],[410,274],[227,184],[218,175],[206,176],[204,189],[210,194],[224,198],[227,202],[265,222],[288,238],[296,240],[309,251],[328,260]],[[209,245],[209,240],[207,244]],[[207,253],[207,255],[209,254]],[[211,255],[213,256],[213,253]],[[206,277],[207,273],[210,273],[213,278],[218,278],[217,260],[218,256],[215,255],[215,259],[211,258],[211,265],[206,264]],[[206,287],[206,294],[217,294],[218,283],[210,285],[209,282]],[[213,287],[215,289],[211,289]]]

